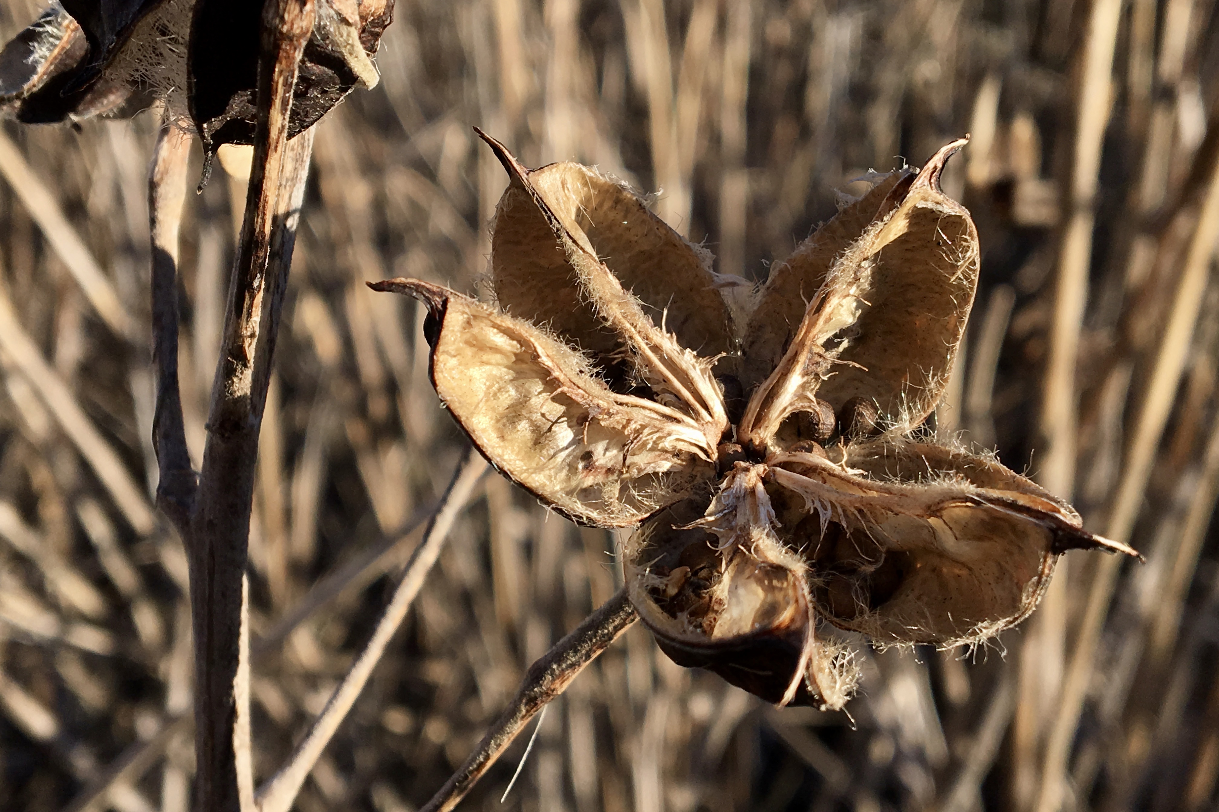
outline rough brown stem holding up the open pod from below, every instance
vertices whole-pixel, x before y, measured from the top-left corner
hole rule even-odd
[[[508,709],[422,812],[447,812],[466,796],[534,715],[556,699],[592,660],[639,620],[627,588],[584,618],[575,631],[529,666]]]

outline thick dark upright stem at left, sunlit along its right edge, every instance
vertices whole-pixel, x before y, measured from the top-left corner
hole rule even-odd
[[[312,0],[268,0],[258,66],[258,121],[245,219],[229,281],[207,444],[187,528],[195,634],[195,799],[202,811],[249,810],[245,566],[258,426],[305,195],[313,135],[288,142]]]

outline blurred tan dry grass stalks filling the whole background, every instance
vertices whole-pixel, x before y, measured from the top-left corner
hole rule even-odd
[[[1072,554],[985,649],[869,654],[853,719],[763,706],[634,628],[550,707],[505,805],[524,741],[463,808],[1217,808],[1219,15],[1093,2],[399,0],[382,84],[318,128],[262,426],[257,773],[364,642],[464,444],[422,312],[363,282],[477,285],[506,180],[472,124],[658,191],[757,279],[852,179],[969,131],[945,184],[981,287],[939,425],[1147,564]],[[0,33],[37,11],[5,0]],[[0,138],[2,808],[188,806],[185,558],[149,499],[155,128]],[[243,195],[215,174],[183,228],[196,465]],[[297,808],[421,806],[619,578],[607,533],[486,477]]]

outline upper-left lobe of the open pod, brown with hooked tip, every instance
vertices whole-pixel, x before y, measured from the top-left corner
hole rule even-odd
[[[602,276],[662,317],[680,346],[703,357],[733,349],[731,317],[707,251],[686,242],[620,181],[578,163],[525,169],[483,138],[513,181],[492,223],[491,285],[501,307],[549,325],[599,365],[612,363],[629,341],[607,313],[620,307],[618,297],[579,268],[586,252],[603,257]]]

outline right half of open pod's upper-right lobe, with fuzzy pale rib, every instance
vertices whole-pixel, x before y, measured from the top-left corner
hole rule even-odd
[[[935,408],[978,281],[974,223],[940,190],[945,162],[964,144],[940,150],[908,187],[895,183],[880,203],[883,214],[834,261],[746,409],[739,432],[746,446],[768,443],[814,396],[835,408],[865,398],[886,425],[903,430]],[[897,206],[890,208],[892,201]],[[759,318],[761,312],[755,323]],[[746,366],[753,366],[750,359]]]

